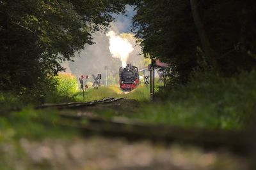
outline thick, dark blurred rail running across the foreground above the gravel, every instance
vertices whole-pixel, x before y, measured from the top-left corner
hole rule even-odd
[[[185,129],[168,125],[143,124],[128,118],[116,117],[106,120],[86,115],[60,115],[58,125],[76,127],[85,134],[96,134],[131,139],[150,139],[161,143],[187,143],[205,149],[227,148],[232,152],[249,153],[253,140],[249,132],[217,131],[207,129]]]

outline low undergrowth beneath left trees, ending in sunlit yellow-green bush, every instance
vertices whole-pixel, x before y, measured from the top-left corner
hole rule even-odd
[[[39,87],[38,87],[39,88]],[[19,110],[26,106],[42,103],[67,103],[75,101],[78,90],[77,78],[72,74],[59,74],[51,77],[47,83],[42,82],[41,89],[24,91],[23,93],[0,93],[0,112]]]

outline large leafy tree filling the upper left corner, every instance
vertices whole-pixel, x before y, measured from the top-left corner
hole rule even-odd
[[[0,90],[38,87],[124,9],[110,0],[0,1]]]

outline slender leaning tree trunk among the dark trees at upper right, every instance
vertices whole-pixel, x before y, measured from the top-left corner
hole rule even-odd
[[[209,61],[209,64],[211,65],[212,69],[214,71],[217,71],[218,63],[217,63],[216,57],[214,56],[214,50],[211,48],[211,43],[209,41],[209,38],[207,37],[207,34],[204,29],[204,25],[202,24],[202,20],[199,15],[198,4],[197,4],[198,1],[200,0],[190,0],[192,15],[194,18],[197,32],[200,37],[203,50],[205,52],[205,56],[207,57],[207,60]]]

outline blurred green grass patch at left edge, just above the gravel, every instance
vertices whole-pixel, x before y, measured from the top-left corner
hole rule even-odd
[[[63,127],[54,125],[54,122],[58,122],[58,118],[58,111],[31,108],[24,108],[4,116],[0,115],[0,143],[20,138],[40,139],[45,136],[66,138],[77,134],[74,129],[63,131]]]

